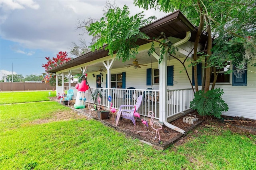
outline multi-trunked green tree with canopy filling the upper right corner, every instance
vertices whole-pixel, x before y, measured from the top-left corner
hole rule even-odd
[[[224,67],[224,62],[222,62],[223,60],[233,61],[239,65],[239,68],[242,69],[246,68],[246,62],[254,66],[256,65],[255,40],[252,40],[252,38],[246,38],[248,36],[255,36],[256,17],[254,1],[134,0],[134,4],[139,7],[143,7],[146,10],[148,8],[155,8],[164,12],[172,12],[174,10],[180,9],[182,12],[184,12],[187,18],[192,21],[193,24],[198,26],[198,34],[196,35],[193,56],[196,91],[198,91],[196,63],[201,62],[202,60],[202,58],[198,60],[196,47],[198,46],[200,35],[203,31],[206,31],[208,34],[207,52],[206,55],[204,55],[205,72],[202,85],[204,92],[207,92],[210,88],[210,76],[212,71],[214,71],[214,80],[216,80],[216,76],[218,76],[218,73],[216,73],[216,68]],[[214,42],[216,48],[214,49],[212,49],[212,35],[216,37],[216,41]],[[230,39],[227,39],[227,37],[230,37]],[[220,43],[221,46],[218,46],[216,42],[222,42]],[[249,43],[251,44],[250,49],[246,45]],[[228,48],[230,47],[230,44],[242,45],[240,46],[239,57],[234,57],[237,56],[238,53],[237,50],[234,52],[231,48]],[[213,56],[212,51],[214,52]],[[229,55],[224,56],[224,53]],[[212,86],[212,89],[213,88],[214,86]]]

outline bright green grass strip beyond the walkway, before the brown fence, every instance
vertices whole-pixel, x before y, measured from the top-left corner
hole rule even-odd
[[[50,100],[49,97],[56,96],[56,91],[24,91],[24,92],[0,92],[0,104],[40,102]]]

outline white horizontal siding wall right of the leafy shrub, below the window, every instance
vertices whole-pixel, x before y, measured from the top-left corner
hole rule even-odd
[[[256,67],[250,66],[248,70],[256,72]],[[247,86],[217,84],[215,88],[224,90],[222,98],[229,110],[223,112],[223,115],[256,119],[256,73],[247,72]]]

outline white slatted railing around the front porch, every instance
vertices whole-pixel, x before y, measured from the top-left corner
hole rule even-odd
[[[75,87],[70,87],[74,90],[73,98],[76,98],[77,90]],[[94,103],[92,93],[96,90],[100,91],[102,97],[100,102],[96,99],[96,103],[100,106],[108,107],[108,88],[90,88],[85,92],[85,98],[90,100],[90,103]],[[189,109],[190,101],[194,98],[192,88],[180,89],[180,90],[167,90],[167,118],[178,114],[184,110]],[[135,105],[136,99],[139,95],[142,95],[142,104],[138,109],[140,116],[147,116],[149,111],[155,113],[155,119],[159,118],[159,90],[145,90],[145,89],[123,89],[123,88],[111,88],[110,96],[112,97],[113,108],[119,109],[122,104]]]

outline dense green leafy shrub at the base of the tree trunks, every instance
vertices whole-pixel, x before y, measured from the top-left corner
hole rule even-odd
[[[202,116],[212,115],[220,118],[221,112],[228,111],[228,105],[222,99],[223,90],[216,88],[204,93],[199,90],[194,94],[194,99],[190,102],[190,107],[198,111]]]

